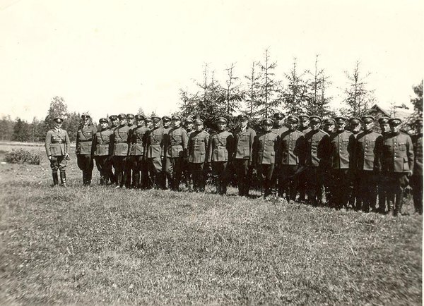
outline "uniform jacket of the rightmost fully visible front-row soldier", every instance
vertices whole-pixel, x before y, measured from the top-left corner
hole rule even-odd
[[[408,172],[413,170],[413,145],[404,133],[389,133],[383,137],[382,171]]]

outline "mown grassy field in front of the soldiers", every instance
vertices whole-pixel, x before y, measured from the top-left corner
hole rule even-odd
[[[44,155],[0,169],[1,304],[421,305],[417,215],[83,187],[75,155],[69,188]]]

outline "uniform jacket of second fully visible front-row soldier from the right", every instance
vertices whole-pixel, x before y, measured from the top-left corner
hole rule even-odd
[[[358,170],[380,171],[383,136],[372,130],[363,131],[356,137],[355,168]]]

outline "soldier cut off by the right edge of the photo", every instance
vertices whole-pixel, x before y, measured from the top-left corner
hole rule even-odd
[[[413,135],[413,174],[411,176],[411,187],[413,195],[413,206],[415,212],[423,214],[423,119],[415,122],[416,134]]]

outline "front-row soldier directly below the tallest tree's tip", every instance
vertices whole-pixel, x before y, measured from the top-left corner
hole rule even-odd
[[[262,131],[255,137],[253,144],[253,163],[261,178],[264,197],[272,194],[273,171],[278,160],[280,137],[272,130],[272,126],[271,119],[262,120]]]

